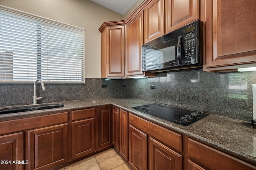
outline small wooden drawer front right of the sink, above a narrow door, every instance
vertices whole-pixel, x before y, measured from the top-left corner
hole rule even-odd
[[[72,121],[95,117],[95,108],[72,111]]]

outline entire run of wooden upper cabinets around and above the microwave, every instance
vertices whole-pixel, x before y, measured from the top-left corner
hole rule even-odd
[[[255,0],[144,0],[126,20],[100,27],[102,78],[148,76],[142,72],[142,45],[198,19],[204,71],[255,66],[255,6]]]

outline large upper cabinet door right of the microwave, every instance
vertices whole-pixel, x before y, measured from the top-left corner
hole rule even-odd
[[[238,64],[256,63],[255,7],[255,0],[206,1],[204,70],[240,68],[246,65]]]

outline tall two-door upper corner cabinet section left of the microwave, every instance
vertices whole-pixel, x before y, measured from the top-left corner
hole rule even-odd
[[[153,73],[142,72],[143,11],[127,22],[105,22],[99,30],[101,78],[156,76]]]

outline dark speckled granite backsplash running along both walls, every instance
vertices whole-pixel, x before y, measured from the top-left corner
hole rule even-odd
[[[190,70],[144,79],[86,78],[86,84],[37,84],[39,103],[92,98],[129,97],[225,117],[252,116],[252,84],[256,72],[212,73]],[[106,84],[106,88],[102,88]],[[126,87],[123,87],[126,84]],[[150,85],[155,85],[151,89]],[[32,104],[34,84],[0,84],[0,107]]]

